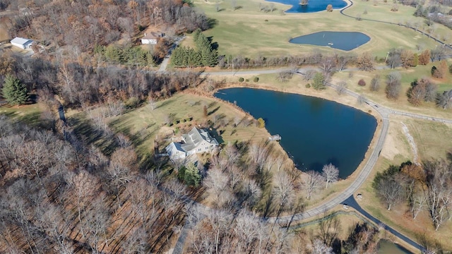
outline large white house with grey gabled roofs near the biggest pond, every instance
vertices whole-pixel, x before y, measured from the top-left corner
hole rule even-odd
[[[189,155],[211,152],[218,147],[218,141],[206,130],[194,127],[189,133],[182,134],[182,143],[169,144],[165,149],[171,159],[184,159]]]

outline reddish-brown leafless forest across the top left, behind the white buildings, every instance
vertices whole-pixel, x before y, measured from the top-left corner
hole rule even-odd
[[[58,49],[70,49],[69,54],[76,56],[121,38],[135,44],[138,32],[148,25],[168,25],[173,34],[206,30],[211,25],[203,13],[182,0],[21,2],[7,3],[18,11],[5,23],[10,37],[31,37]],[[21,4],[27,7],[18,10]]]

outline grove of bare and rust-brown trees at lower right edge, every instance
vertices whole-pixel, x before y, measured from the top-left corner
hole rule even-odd
[[[449,158],[450,153],[449,153]],[[405,162],[376,174],[372,183],[388,210],[400,202],[413,219],[428,214],[435,230],[452,217],[452,162],[431,159],[422,164]]]

